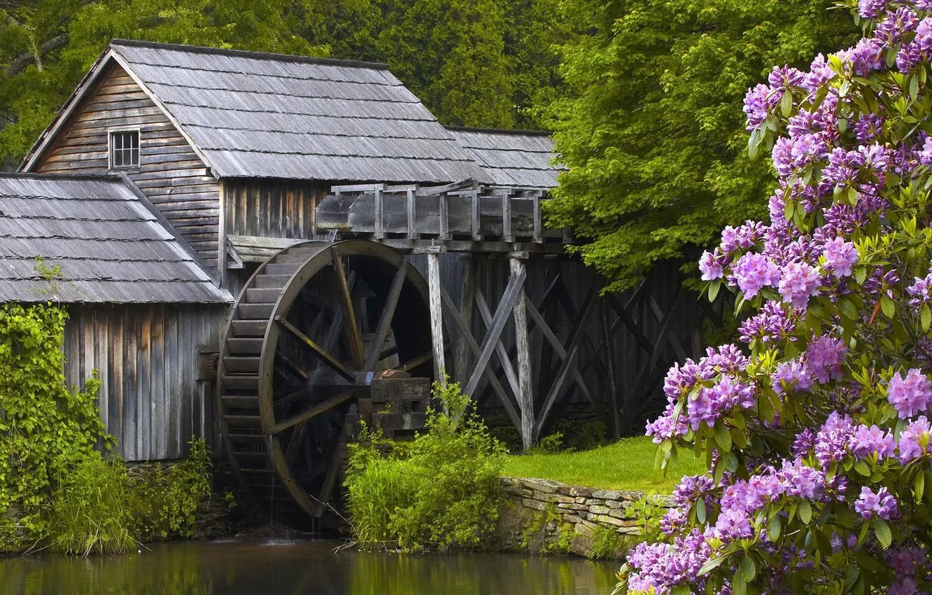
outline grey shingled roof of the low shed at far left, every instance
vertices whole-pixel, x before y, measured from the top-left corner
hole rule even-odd
[[[130,185],[0,174],[0,301],[232,301]],[[61,277],[49,282],[37,256]]]

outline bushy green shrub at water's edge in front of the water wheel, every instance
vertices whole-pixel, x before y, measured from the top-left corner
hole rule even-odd
[[[347,505],[361,547],[475,548],[495,528],[505,449],[465,412],[458,384],[434,384],[434,396],[443,410],[428,411],[427,432],[404,452],[377,429],[349,445]]]

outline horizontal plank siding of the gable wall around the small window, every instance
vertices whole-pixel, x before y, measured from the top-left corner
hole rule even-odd
[[[108,131],[124,127],[140,128],[139,168],[126,173],[216,267],[219,183],[165,113],[119,66],[64,127],[36,171],[107,173]]]

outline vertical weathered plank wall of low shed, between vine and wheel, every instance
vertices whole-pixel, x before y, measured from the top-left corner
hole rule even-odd
[[[185,456],[191,436],[212,442],[212,382],[198,381],[201,348],[216,351],[223,306],[74,306],[65,326],[65,379],[98,370],[107,432],[127,461]]]

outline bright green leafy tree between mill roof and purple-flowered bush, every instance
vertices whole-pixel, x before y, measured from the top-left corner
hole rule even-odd
[[[747,159],[742,100],[772,64],[803,66],[857,39],[831,4],[565,0],[590,33],[562,47],[574,95],[549,110],[569,168],[551,221],[591,241],[575,250],[610,290],[766,214],[774,174]]]

